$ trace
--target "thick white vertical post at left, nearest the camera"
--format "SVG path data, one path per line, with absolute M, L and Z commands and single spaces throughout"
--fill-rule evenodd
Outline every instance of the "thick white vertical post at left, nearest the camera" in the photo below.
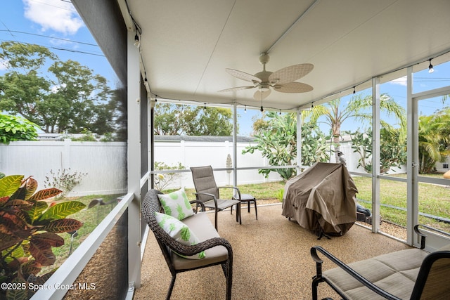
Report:
M 129 288 L 141 286 L 141 72 L 139 48 L 134 46 L 134 32 L 127 43 L 128 112 L 128 191 L 134 200 L 128 207 L 128 279 Z

